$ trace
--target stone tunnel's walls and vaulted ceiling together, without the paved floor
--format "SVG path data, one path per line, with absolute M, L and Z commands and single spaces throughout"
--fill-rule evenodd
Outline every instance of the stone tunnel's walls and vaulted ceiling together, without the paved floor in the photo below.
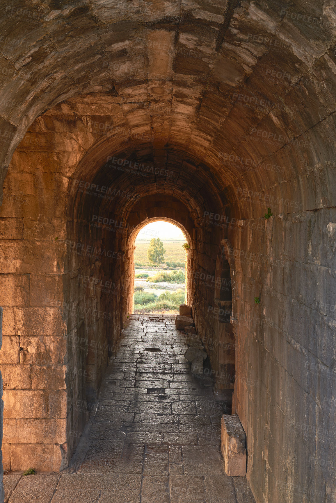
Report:
M 4 469 L 68 467 L 165 220 L 255 500 L 335 501 L 334 2 L 1 13 Z

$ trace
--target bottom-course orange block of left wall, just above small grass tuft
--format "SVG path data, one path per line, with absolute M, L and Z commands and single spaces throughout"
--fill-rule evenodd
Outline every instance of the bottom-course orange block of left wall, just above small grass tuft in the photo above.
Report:
M 59 471 L 61 451 L 54 444 L 11 444 L 12 470 Z

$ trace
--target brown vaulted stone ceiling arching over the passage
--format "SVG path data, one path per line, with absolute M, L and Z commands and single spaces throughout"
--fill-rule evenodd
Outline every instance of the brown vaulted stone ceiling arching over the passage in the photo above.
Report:
M 309 207 L 307 175 L 334 149 L 318 146 L 333 137 L 336 109 L 331 3 L 17 2 L 3 11 L 3 176 L 34 119 L 44 114 L 43 130 L 59 114 L 63 137 L 63 119 L 76 122 L 92 180 L 107 156 L 124 156 L 180 172 L 154 178 L 151 193 L 170 186 L 190 201 L 194 183 L 200 199 L 215 191 L 234 204 L 240 187 Z M 324 192 L 316 204 L 330 199 Z

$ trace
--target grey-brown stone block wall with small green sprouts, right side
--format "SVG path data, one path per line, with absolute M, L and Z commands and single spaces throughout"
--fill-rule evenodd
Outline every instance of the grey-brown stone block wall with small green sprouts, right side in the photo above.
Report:
M 302 211 L 264 220 L 259 239 L 230 233 L 241 285 L 234 410 L 260 501 L 332 501 L 335 220 Z

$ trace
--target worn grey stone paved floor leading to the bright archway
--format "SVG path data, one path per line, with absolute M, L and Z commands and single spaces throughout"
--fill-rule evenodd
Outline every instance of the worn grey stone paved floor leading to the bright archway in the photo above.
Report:
M 246 478 L 223 471 L 228 410 L 191 374 L 175 316 L 130 318 L 72 466 L 5 475 L 5 501 L 253 503 Z

